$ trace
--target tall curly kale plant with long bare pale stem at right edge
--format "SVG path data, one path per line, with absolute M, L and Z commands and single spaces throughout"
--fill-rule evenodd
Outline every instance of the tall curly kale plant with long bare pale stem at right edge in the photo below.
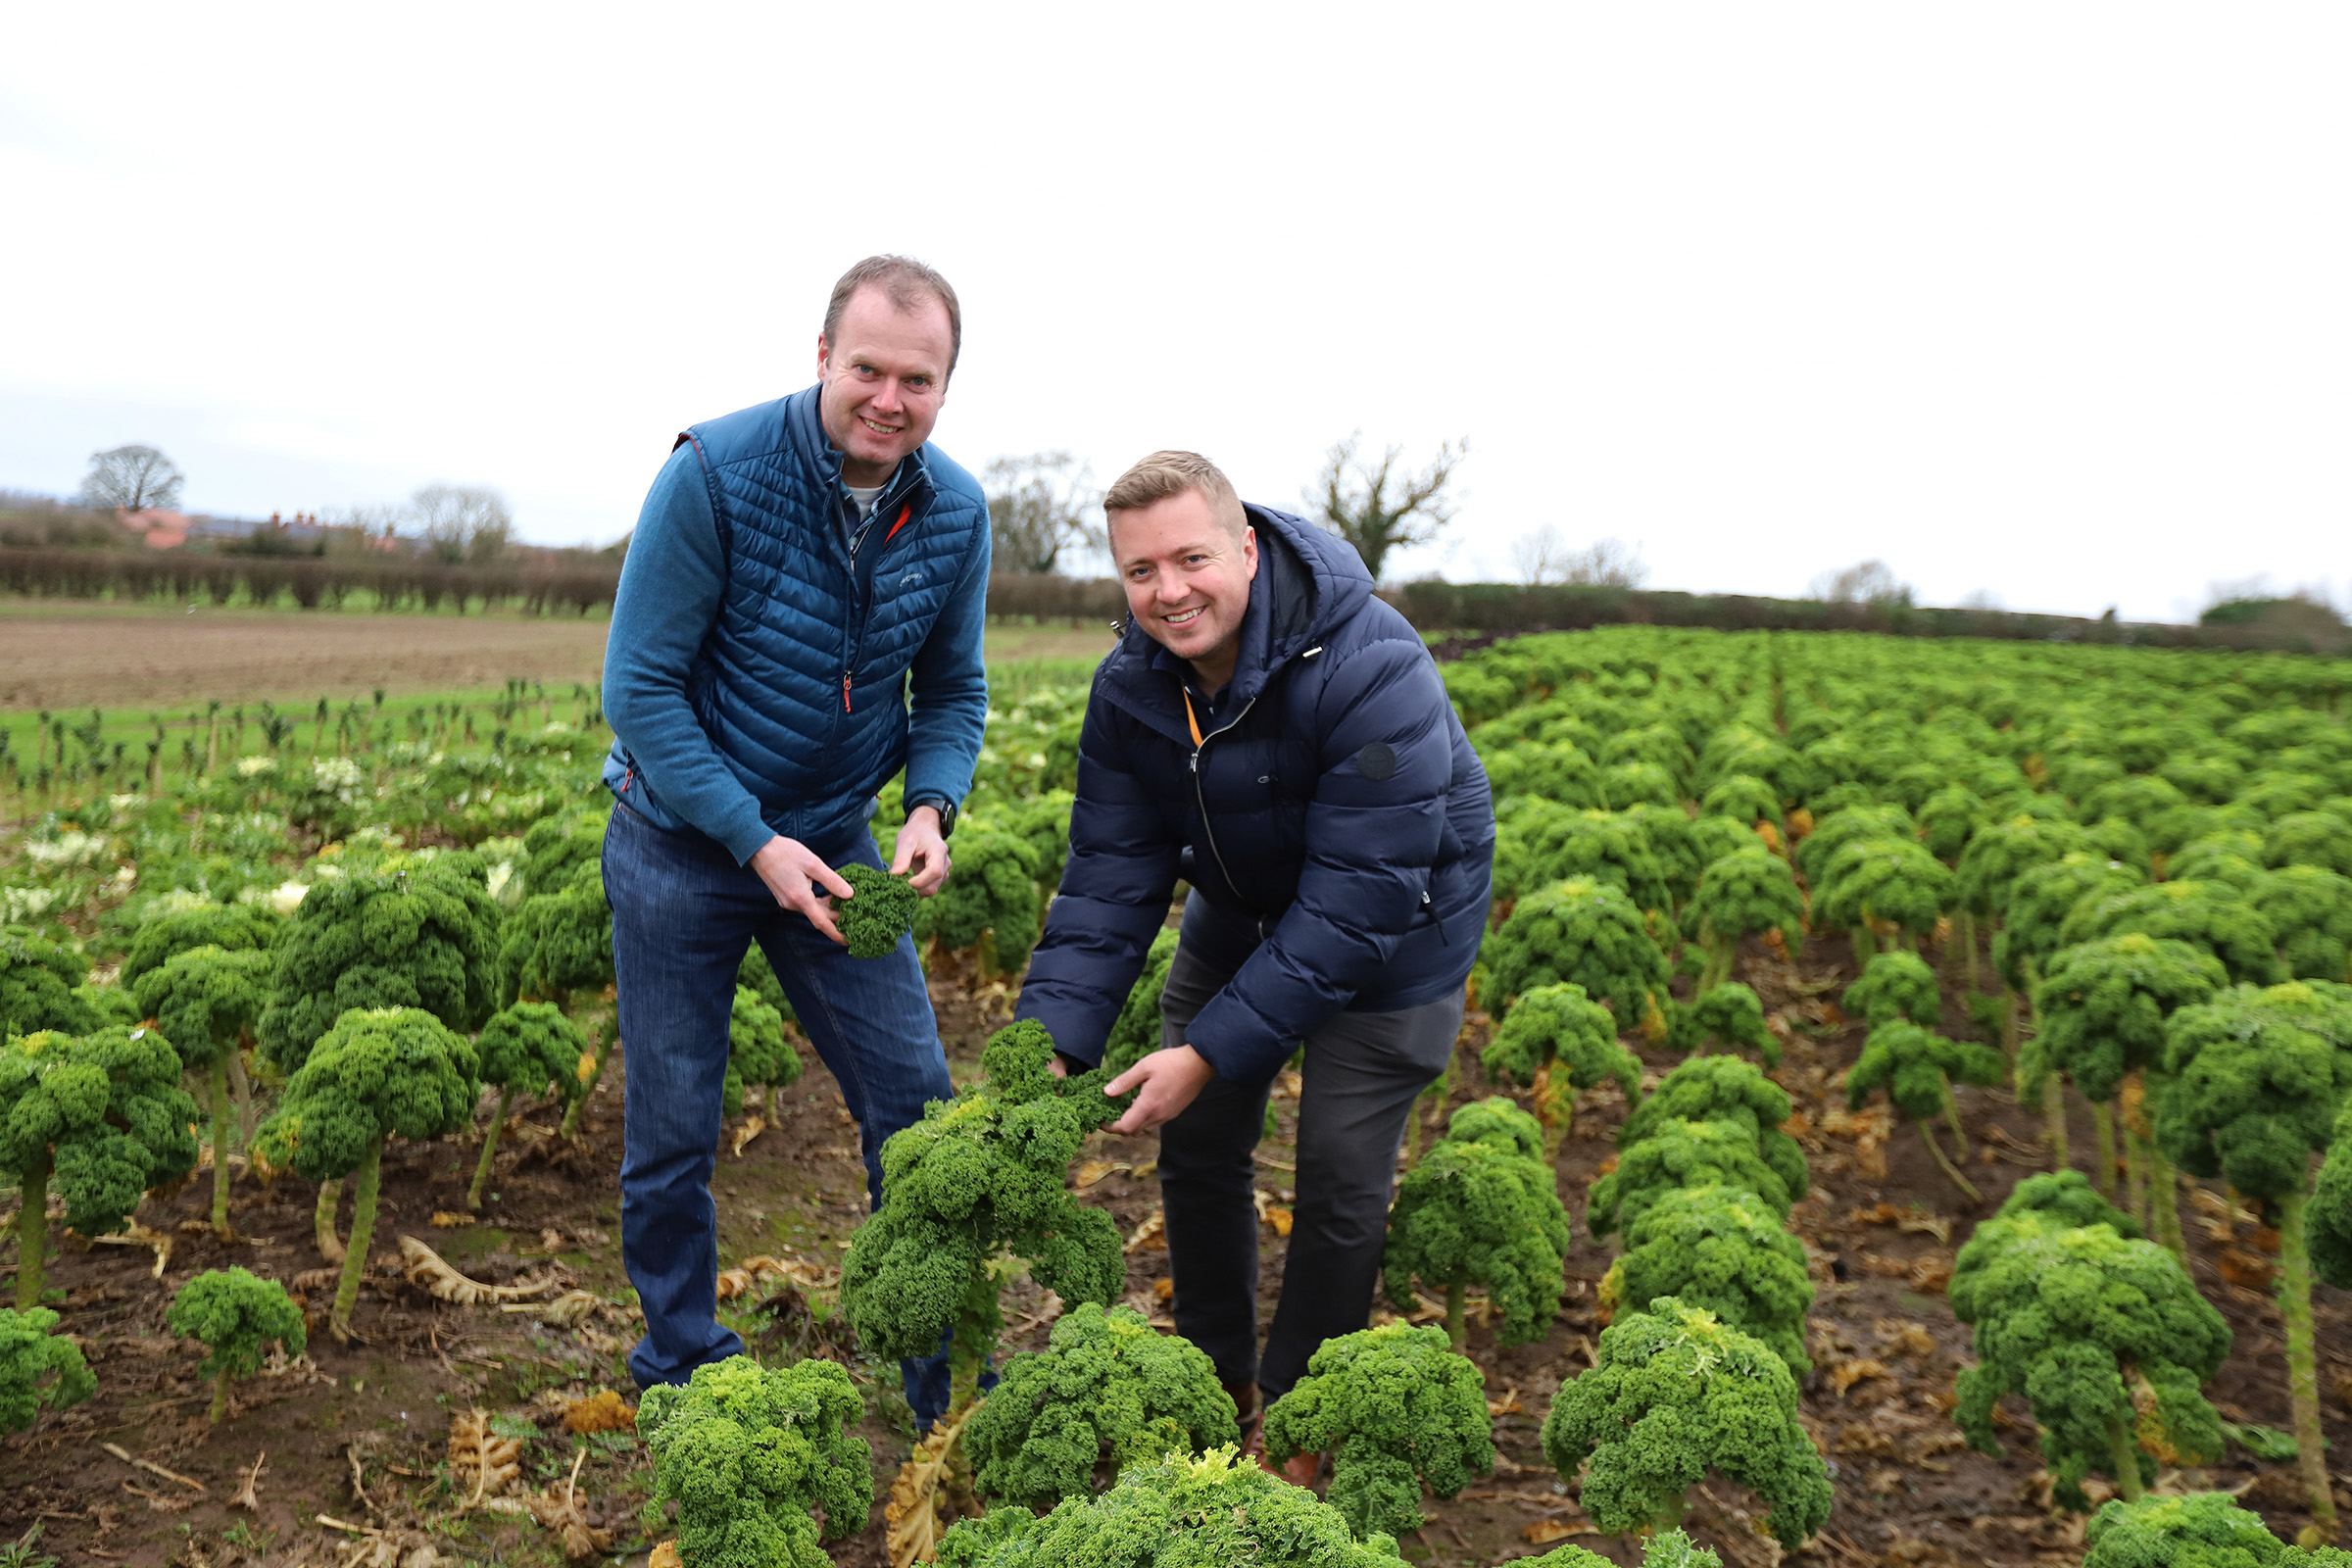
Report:
M 2279 1227 L 2286 1394 L 2312 1521 L 2333 1533 L 2303 1215 L 2312 1152 L 2328 1145 L 2352 1091 L 2352 985 L 2239 985 L 2185 1006 L 2164 1027 L 2164 1065 L 2173 1081 L 2157 1100 L 2157 1147 L 2185 1171 L 2220 1175 L 2260 1199 Z

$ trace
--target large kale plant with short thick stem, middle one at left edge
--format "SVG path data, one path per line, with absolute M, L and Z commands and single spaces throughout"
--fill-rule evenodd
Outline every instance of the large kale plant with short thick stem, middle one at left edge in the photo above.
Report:
M 24 1034 L 0 1044 L 0 1173 L 16 1206 L 16 1307 L 38 1307 L 49 1258 L 49 1180 L 66 1225 L 122 1229 L 139 1197 L 195 1168 L 195 1100 L 160 1030 Z

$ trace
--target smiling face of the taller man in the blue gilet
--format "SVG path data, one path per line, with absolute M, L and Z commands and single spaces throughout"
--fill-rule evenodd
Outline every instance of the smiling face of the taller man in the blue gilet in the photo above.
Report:
M 955 334 L 948 308 L 922 296 L 913 310 L 882 287 L 858 289 L 842 308 L 835 341 L 816 336 L 818 409 L 842 454 L 842 482 L 882 484 L 898 461 L 931 440 L 948 397 Z

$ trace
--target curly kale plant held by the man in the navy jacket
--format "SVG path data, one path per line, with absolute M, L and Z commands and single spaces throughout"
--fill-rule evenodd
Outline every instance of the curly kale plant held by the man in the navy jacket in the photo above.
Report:
M 1120 1229 L 1070 1197 L 1070 1161 L 1120 1103 L 1101 1067 L 1051 1074 L 1054 1037 L 1033 1020 L 1000 1030 L 983 1079 L 934 1100 L 882 1145 L 882 1206 L 849 1239 L 842 1309 L 880 1356 L 931 1356 L 955 1331 L 955 1406 L 971 1401 L 1002 1316 L 990 1258 L 1025 1258 L 1065 1302 L 1110 1302 L 1127 1281 Z

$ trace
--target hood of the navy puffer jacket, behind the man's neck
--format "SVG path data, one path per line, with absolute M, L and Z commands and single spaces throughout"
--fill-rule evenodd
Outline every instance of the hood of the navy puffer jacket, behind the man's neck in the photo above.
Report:
M 1275 670 L 1324 642 L 1334 628 L 1364 609 L 1371 599 L 1371 574 L 1364 571 L 1364 557 L 1355 545 L 1338 534 L 1270 505 L 1244 501 L 1242 510 L 1258 534 L 1258 576 L 1249 585 L 1242 649 L 1232 665 L 1232 696 L 1247 703 L 1265 689 Z M 1103 677 L 1134 689 L 1145 670 L 1167 670 L 1181 679 L 1188 665 L 1127 616 L 1120 646 L 1103 661 Z M 1174 715 L 1174 708 L 1169 712 Z

